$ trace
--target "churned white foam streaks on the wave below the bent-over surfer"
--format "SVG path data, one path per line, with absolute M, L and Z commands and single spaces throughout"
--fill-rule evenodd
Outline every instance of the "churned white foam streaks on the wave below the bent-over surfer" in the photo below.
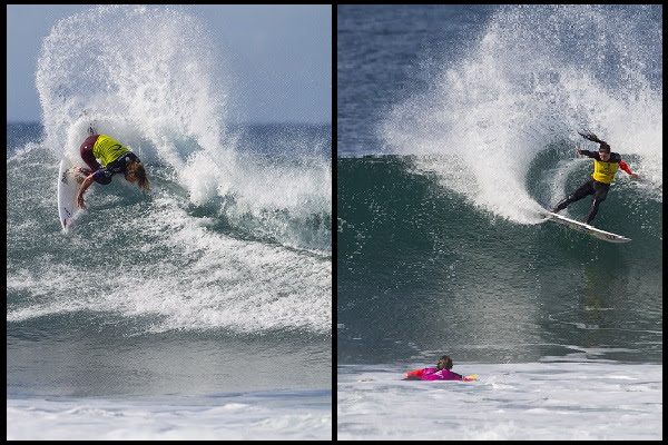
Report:
M 194 219 L 173 197 L 156 198 L 137 220 L 122 281 L 106 283 L 104 293 L 72 288 L 82 277 L 105 283 L 106 270 L 90 270 L 85 257 L 67 266 L 43 261 L 37 270 L 8 276 L 8 289 L 31 296 L 29 306 L 9 308 L 8 322 L 89 310 L 126 318 L 149 317 L 147 332 L 224 328 L 239 333 L 306 329 L 327 334 L 332 324 L 331 261 L 318 256 L 245 241 L 208 230 L 208 219 Z M 107 221 L 110 233 L 124 219 Z M 86 238 L 66 238 L 85 249 Z M 105 244 L 99 245 L 104 248 Z M 156 261 L 163 256 L 163 261 Z M 128 258 L 129 259 L 129 258 Z M 69 291 L 63 291 L 69 289 Z M 156 320 L 156 317 L 158 320 Z

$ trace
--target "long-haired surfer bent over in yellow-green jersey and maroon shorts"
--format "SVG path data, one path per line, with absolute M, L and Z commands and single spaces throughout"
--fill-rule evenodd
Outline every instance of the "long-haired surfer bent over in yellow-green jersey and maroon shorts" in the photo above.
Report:
M 140 189 L 149 190 L 144 165 L 132 151 L 108 136 L 96 134 L 92 127 L 88 129 L 88 132 L 90 136 L 81 144 L 80 152 L 81 159 L 90 167 L 90 170 L 75 167 L 86 176 L 77 194 L 77 205 L 80 208 L 86 207 L 84 192 L 92 182 L 107 185 L 111 182 L 111 177 L 119 172 L 124 174 L 127 181 L 137 182 Z

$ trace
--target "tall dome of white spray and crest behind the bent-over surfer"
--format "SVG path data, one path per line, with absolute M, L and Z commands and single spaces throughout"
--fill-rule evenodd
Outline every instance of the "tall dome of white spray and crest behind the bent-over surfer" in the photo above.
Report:
M 288 246 L 331 250 L 331 227 L 303 230 L 331 215 L 331 159 L 318 148 L 331 142 L 307 142 L 312 160 L 302 149 L 291 155 L 306 161 L 267 162 L 266 147 L 229 128 L 234 81 L 220 47 L 175 8 L 100 6 L 62 19 L 38 61 L 43 145 L 82 165 L 92 125 L 135 151 L 149 178 L 168 167 L 193 205 Z M 295 135 L 293 146 L 303 144 Z

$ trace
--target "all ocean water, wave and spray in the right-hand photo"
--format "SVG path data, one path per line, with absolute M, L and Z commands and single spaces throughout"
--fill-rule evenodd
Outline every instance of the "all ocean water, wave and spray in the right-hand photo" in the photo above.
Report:
M 661 14 L 337 8 L 340 439 L 662 437 Z M 540 217 L 583 129 L 641 177 L 592 222 L 629 244 Z M 401 380 L 443 354 L 478 380 Z

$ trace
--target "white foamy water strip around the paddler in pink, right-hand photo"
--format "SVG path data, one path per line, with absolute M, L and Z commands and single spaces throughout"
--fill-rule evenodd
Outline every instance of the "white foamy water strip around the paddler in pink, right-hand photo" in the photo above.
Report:
M 340 366 L 338 439 L 662 438 L 661 365 L 461 363 L 477 380 L 402 380 L 426 365 Z

